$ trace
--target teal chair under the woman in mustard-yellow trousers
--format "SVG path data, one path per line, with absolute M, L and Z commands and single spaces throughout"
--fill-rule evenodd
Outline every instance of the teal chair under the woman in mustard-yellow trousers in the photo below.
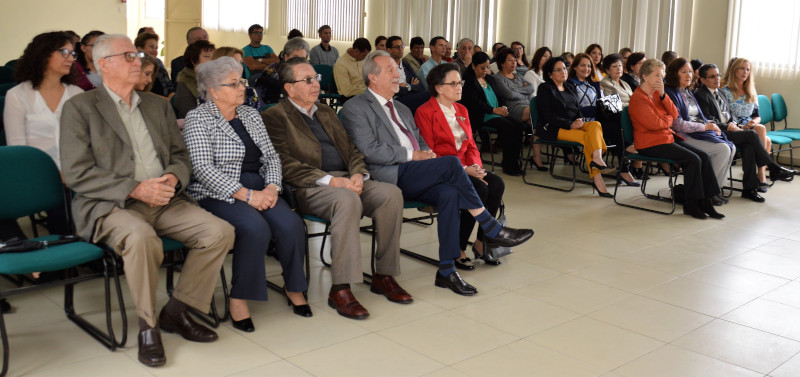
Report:
M 536 102 L 536 97 L 531 98 L 530 111 L 531 111 L 531 130 L 532 132 L 535 133 L 536 126 L 538 125 L 539 122 L 539 107 Z M 525 158 L 525 165 L 522 168 L 522 181 L 525 182 L 525 184 L 531 186 L 543 187 L 551 190 L 562 191 L 562 192 L 570 192 L 574 190 L 575 183 L 578 182 L 587 185 L 592 184 L 590 181 L 578 179 L 578 172 L 577 172 L 578 164 L 572 165 L 571 176 L 562 176 L 555 173 L 555 164 L 556 161 L 558 160 L 558 152 L 563 149 L 567 149 L 572 151 L 573 155 L 578 156 L 580 154 L 580 151 L 583 149 L 583 145 L 581 145 L 581 143 L 576 143 L 574 141 L 564 141 L 564 140 L 545 140 L 542 138 L 536 139 L 536 141 L 534 141 L 533 143 L 541 144 L 547 147 L 548 150 L 547 154 L 550 156 L 548 164 L 548 170 L 550 171 L 550 176 L 558 180 L 568 181 L 570 182 L 570 186 L 569 188 L 562 188 L 557 186 L 545 185 L 541 183 L 528 182 L 528 174 L 527 174 L 528 164 L 533 158 L 533 146 L 531 146 L 530 150 L 528 151 L 528 157 Z

